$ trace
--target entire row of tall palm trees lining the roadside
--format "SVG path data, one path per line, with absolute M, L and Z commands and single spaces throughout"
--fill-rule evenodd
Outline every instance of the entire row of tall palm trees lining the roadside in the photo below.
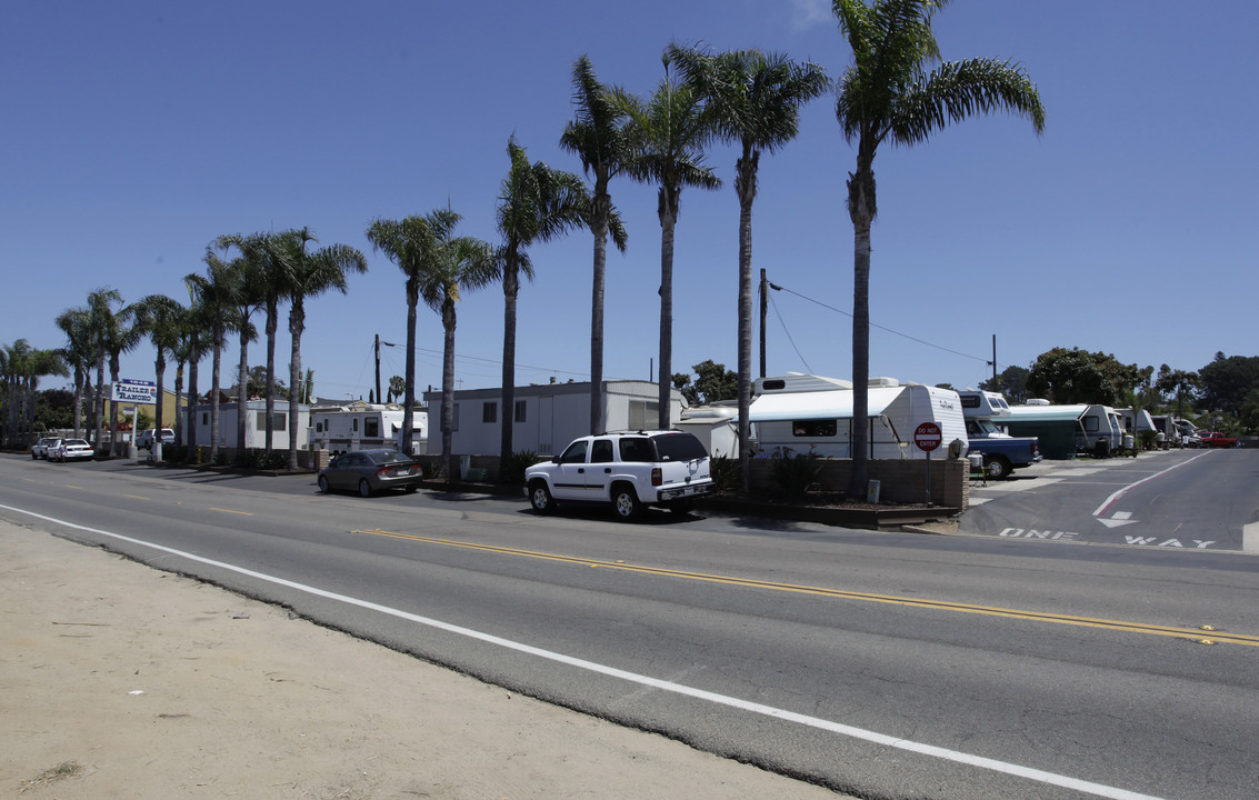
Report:
M 968 59 L 940 63 L 939 48 L 932 33 L 934 14 L 948 0 L 832 0 L 840 30 L 847 40 L 854 63 L 836 83 L 836 120 L 844 136 L 856 145 L 857 164 L 849 175 L 849 215 L 854 224 L 854 311 L 852 383 L 854 418 L 866 417 L 869 382 L 869 272 L 870 229 L 876 215 L 874 157 L 879 145 L 890 142 L 910 146 L 923 142 L 946 125 L 976 113 L 998 110 L 1029 118 L 1035 130 L 1044 129 L 1044 107 L 1035 86 L 1024 69 L 1011 62 Z M 684 186 L 716 189 L 720 180 L 705 164 L 705 147 L 713 142 L 733 144 L 735 193 L 739 199 L 739 438 L 740 459 L 750 455 L 749 438 L 752 397 L 752 209 L 763 154 L 773 154 L 793 140 L 799 127 L 799 110 L 831 86 L 826 72 L 813 63 L 796 63 L 782 54 L 758 50 L 710 53 L 700 48 L 669 45 L 662 57 L 665 78 L 647 100 L 624 89 L 604 86 L 593 66 L 582 57 L 573 67 L 572 89 L 574 118 L 560 136 L 560 146 L 577 155 L 590 180 L 556 170 L 544 163 L 530 163 L 515 139 L 507 142 L 510 169 L 501 184 L 496 214 L 502 244 L 491 248 L 471 237 L 456 237 L 460 220 L 451 209 L 402 220 L 376 220 L 368 239 L 385 253 L 405 276 L 408 307 L 407 330 L 407 412 L 414 406 L 415 307 L 421 299 L 442 315 L 444 358 L 442 375 L 442 451 L 451 456 L 453 408 L 454 305 L 460 292 L 480 289 L 501 280 L 504 311 L 502 358 L 502 435 L 500 456 L 512 454 L 512 409 L 515 387 L 515 328 L 520 277 L 533 277 L 529 248 L 540 242 L 585 227 L 594 239 L 592 314 L 590 314 L 590 432 L 603 430 L 603 285 L 607 239 L 624 249 L 626 231 L 612 203 L 609 185 L 627 176 L 658 186 L 661 224 L 661 312 L 660 312 L 660 418 L 669 427 L 672 389 L 672 258 L 679 203 Z M 676 74 L 675 74 L 676 68 Z M 220 237 L 206 251 L 206 275 L 186 278 L 208 325 L 201 336 L 191 334 L 191 344 L 175 336 L 165 348 L 183 364 L 189 364 L 190 392 L 195 394 L 196 362 L 200 346 L 214 353 L 214 391 L 212 414 L 217 421 L 219 396 L 219 349 L 223 336 L 233 330 L 240 335 L 240 386 L 246 386 L 246 346 L 253 331 L 249 317 L 264 310 L 267 316 L 267 449 L 271 449 L 272 402 L 274 384 L 274 333 L 277 309 L 288 301 L 292 335 L 290 362 L 291 386 L 298 384 L 300 339 L 305 323 L 305 297 L 327 289 L 345 291 L 345 276 L 366 268 L 361 253 L 347 246 L 332 246 L 310 252 L 313 236 L 307 229 L 279 234 Z M 238 253 L 228 260 L 228 254 Z M 247 277 L 253 276 L 253 277 Z M 252 289 L 244 289 L 249 286 Z M 111 297 L 106 290 L 93 294 Z M 176 304 L 178 305 L 178 304 Z M 89 299 L 87 312 L 94 306 Z M 120 310 L 125 316 L 127 310 Z M 154 338 L 159 350 L 161 383 L 164 315 L 179 316 L 174 306 L 147 297 L 135 311 L 136 326 Z M 104 319 L 104 317 L 101 317 Z M 111 348 L 126 345 L 122 330 L 110 339 Z M 101 336 L 102 334 L 96 334 Z M 180 348 L 191 348 L 190 351 Z M 102 353 L 97 346 L 97 391 L 102 383 Z M 111 358 L 111 368 L 117 355 Z M 73 362 L 71 362 L 73 365 Z M 179 378 L 176 378 L 176 382 Z M 176 393 L 179 392 L 176 384 Z M 159 427 L 161 422 L 157 422 Z M 238 414 L 238 442 L 243 446 L 244 418 Z M 212 427 L 217 422 L 212 423 Z M 296 403 L 290 404 L 290 431 L 296 430 Z M 410 435 L 409 421 L 403 426 Z M 864 426 L 854 426 L 854 469 L 850 494 L 860 496 L 866 479 L 866 436 Z M 212 447 L 217 447 L 217 427 Z M 410 446 L 410 442 L 407 442 Z M 290 465 L 296 466 L 296 437 L 290 437 Z M 744 467 L 747 464 L 744 462 Z M 748 470 L 743 470 L 747 481 Z

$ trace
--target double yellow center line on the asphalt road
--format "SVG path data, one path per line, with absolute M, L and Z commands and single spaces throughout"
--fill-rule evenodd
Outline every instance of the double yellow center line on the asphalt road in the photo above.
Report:
M 1124 631 L 1131 634 L 1148 634 L 1153 636 L 1171 636 L 1175 639 L 1188 639 L 1199 644 L 1239 644 L 1259 646 L 1259 636 L 1245 634 L 1229 634 L 1217 631 L 1205 625 L 1200 629 L 1173 627 L 1168 625 L 1147 625 L 1144 622 L 1128 622 L 1123 620 L 1107 620 L 1097 617 L 1071 616 L 1066 614 L 1047 614 L 1042 611 L 1026 611 L 1022 609 L 1002 609 L 1000 606 L 978 606 L 972 603 L 948 602 L 943 600 L 922 600 L 917 597 L 899 597 L 896 595 L 874 595 L 869 592 L 851 592 L 846 590 L 826 588 L 818 586 L 801 586 L 796 583 L 779 583 L 776 581 L 757 581 L 753 578 L 739 578 L 734 576 L 706 574 L 703 572 L 685 572 L 680 569 L 665 569 L 662 567 L 647 567 L 630 564 L 622 561 L 599 561 L 579 558 L 575 556 L 559 556 L 555 553 L 540 553 L 536 551 L 522 551 L 496 544 L 477 544 L 475 542 L 460 542 L 454 539 L 437 539 L 408 533 L 394 533 L 389 530 L 353 530 L 351 533 L 365 533 L 392 539 L 407 539 L 410 542 L 423 542 L 426 544 L 441 544 L 444 547 L 457 547 L 470 551 L 496 553 L 500 556 L 514 556 L 521 558 L 539 558 L 582 567 L 603 569 L 619 569 L 623 572 L 636 572 L 640 574 L 652 574 L 667 578 L 681 578 L 687 581 L 704 581 L 708 583 L 724 583 L 728 586 L 742 586 L 747 588 L 767 588 L 778 592 L 794 592 L 799 595 L 816 595 L 820 597 L 833 597 L 837 600 L 855 600 L 861 602 L 880 602 L 898 606 L 910 606 L 917 609 L 930 609 L 935 611 L 954 611 L 961 614 L 981 614 L 986 616 L 1001 616 L 1015 620 L 1029 620 L 1034 622 L 1053 622 L 1058 625 L 1074 625 L 1078 627 L 1099 627 L 1104 630 Z

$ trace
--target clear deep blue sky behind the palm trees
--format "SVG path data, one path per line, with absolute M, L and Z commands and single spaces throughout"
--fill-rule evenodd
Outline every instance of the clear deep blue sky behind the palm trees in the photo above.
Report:
M 1259 5 L 1243 0 L 947 6 L 943 58 L 1017 62 L 1046 126 L 973 117 L 880 149 L 870 374 L 974 386 L 992 374 L 993 338 L 998 370 L 1055 346 L 1156 370 L 1255 355 L 1255 29 Z M 851 63 L 823 0 L 9 4 L 0 345 L 62 346 L 55 316 L 102 287 L 186 302 L 183 278 L 204 272 L 218 236 L 308 227 L 322 246 L 363 251 L 369 271 L 307 301 L 302 367 L 321 398 L 368 398 L 376 335 L 395 344 L 381 380 L 404 373 L 407 319 L 402 272 L 373 252 L 370 223 L 449 207 L 460 234 L 497 243 L 509 137 L 580 174 L 559 147 L 574 62 L 588 55 L 602 82 L 647 96 L 670 42 L 784 53 L 832 79 Z M 723 188 L 682 193 L 672 372 L 738 367 L 737 157 L 711 146 Z M 851 377 L 855 160 L 833 92 L 760 160 L 753 272 L 782 287 L 765 325 L 771 375 Z M 604 378 L 655 379 L 656 189 L 621 178 L 611 194 L 630 244 L 608 248 Z M 530 249 L 517 384 L 589 378 L 592 253 L 588 231 Z M 457 388 L 499 386 L 502 310 L 500 286 L 462 297 Z M 427 306 L 418 319 L 422 392 L 441 384 L 442 326 Z M 233 341 L 224 363 L 237 357 Z M 261 343 L 249 360 L 264 362 Z M 154 379 L 150 344 L 123 355 L 122 378 Z

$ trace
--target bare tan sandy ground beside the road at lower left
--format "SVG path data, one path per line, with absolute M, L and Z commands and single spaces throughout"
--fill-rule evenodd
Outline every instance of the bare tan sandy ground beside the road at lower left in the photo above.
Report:
M 838 795 L 0 523 L 0 797 Z

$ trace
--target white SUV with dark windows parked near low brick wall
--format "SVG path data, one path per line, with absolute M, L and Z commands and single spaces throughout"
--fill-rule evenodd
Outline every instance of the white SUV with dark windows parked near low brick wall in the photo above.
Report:
M 685 513 L 713 490 L 704 443 L 681 431 L 583 436 L 525 470 L 525 496 L 539 514 L 568 501 L 611 503 L 623 520 L 647 505 Z

